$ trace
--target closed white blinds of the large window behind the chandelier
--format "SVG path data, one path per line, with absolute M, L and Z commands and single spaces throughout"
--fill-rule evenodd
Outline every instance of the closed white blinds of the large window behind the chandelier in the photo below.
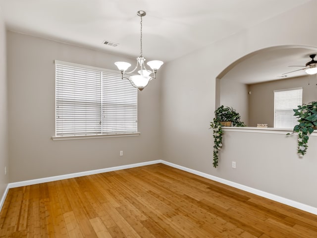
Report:
M 64 65 L 56 69 L 56 136 L 137 132 L 137 89 L 119 73 Z

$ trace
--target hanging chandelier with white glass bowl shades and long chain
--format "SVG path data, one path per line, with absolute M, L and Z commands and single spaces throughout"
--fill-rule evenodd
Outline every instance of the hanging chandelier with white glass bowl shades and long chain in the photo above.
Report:
M 145 58 L 142 54 L 142 17 L 145 16 L 147 13 L 145 11 L 138 11 L 137 15 L 141 17 L 141 50 L 140 50 L 140 57 L 137 58 L 137 65 L 135 68 L 130 71 L 126 72 L 126 70 L 131 66 L 128 62 L 115 62 L 114 64 L 118 67 L 118 69 L 121 72 L 121 79 L 128 79 L 133 87 L 138 88 L 140 91 L 142 91 L 150 82 L 150 80 L 156 78 L 156 74 L 160 66 L 163 64 L 163 61 L 160 60 L 152 60 L 147 62 L 147 64 L 150 66 L 152 70 L 149 70 L 146 68 L 144 62 Z M 139 74 L 127 76 L 126 73 L 132 73 L 135 70 L 139 69 L 137 72 Z

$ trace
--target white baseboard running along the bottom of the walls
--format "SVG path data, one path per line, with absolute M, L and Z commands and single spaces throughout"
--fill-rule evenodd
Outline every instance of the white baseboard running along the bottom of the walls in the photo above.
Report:
M 310 212 L 310 213 L 317 215 L 317 208 L 316 207 L 312 207 L 312 206 L 309 206 L 309 205 L 306 205 L 306 204 L 303 204 L 300 202 L 296 202 L 296 201 L 293 201 L 293 200 L 290 200 L 290 199 L 287 199 L 287 198 L 284 198 L 281 196 L 277 196 L 277 195 L 274 195 L 274 194 L 271 194 L 268 192 L 264 192 L 264 191 L 259 190 L 259 189 L 248 187 L 248 186 L 245 186 L 245 185 L 240 184 L 240 183 L 232 182 L 232 181 L 229 181 L 226 179 L 221 179 L 221 178 L 218 178 L 218 177 L 215 177 L 215 176 L 212 176 L 209 174 L 205 174 L 203 172 L 199 172 L 196 170 L 192 170 L 192 169 L 180 166 L 180 165 L 176 165 L 176 164 L 164 161 L 164 160 L 154 160 L 154 161 L 142 162 L 142 163 L 137 163 L 137 164 L 130 164 L 130 165 L 105 168 L 105 169 L 100 169 L 100 170 L 91 170 L 91 171 L 79 172 L 79 173 L 68 174 L 68 175 L 53 176 L 53 177 L 42 178 L 42 179 L 32 179 L 32 180 L 26 180 L 26 181 L 20 181 L 20 182 L 12 182 L 12 183 L 9 183 L 7 185 L 5 191 L 2 195 L 2 198 L 0 200 L 0 210 L 3 206 L 4 200 L 5 200 L 5 197 L 7 195 L 9 188 L 27 186 L 27 185 L 38 184 L 38 183 L 43 183 L 43 182 L 57 181 L 57 180 L 61 180 L 61 179 L 71 179 L 71 178 L 87 176 L 87 175 L 95 175 L 95 174 L 106 173 L 106 172 L 110 172 L 110 171 L 130 169 L 130 168 L 136 168 L 136 167 L 146 166 L 146 165 L 153 165 L 153 164 L 158 164 L 158 163 L 162 163 L 164 165 L 168 165 L 168 166 L 171 166 L 173 168 L 180 169 L 180 170 L 189 172 L 189 173 L 194 174 L 194 175 L 198 175 L 198 176 L 201 176 L 201 177 L 204 177 L 207 179 L 211 179 L 211 180 L 214 180 L 214 181 L 217 181 L 217 182 L 220 182 L 220 183 L 223 183 L 223 184 L 226 184 L 226 185 L 229 185 L 229 186 L 232 186 L 232 187 L 235 187 L 235 188 L 238 188 L 238 189 L 241 189 L 241 190 L 244 190 L 244 191 L 265 197 L 265 198 L 268 198 L 270 200 L 277 201 L 277 202 L 280 202 L 280 203 L 283 203 L 283 204 L 286 204 L 286 205 L 289 205 L 289 206 L 292 206 L 292 207 L 301 209 L 303 211 Z

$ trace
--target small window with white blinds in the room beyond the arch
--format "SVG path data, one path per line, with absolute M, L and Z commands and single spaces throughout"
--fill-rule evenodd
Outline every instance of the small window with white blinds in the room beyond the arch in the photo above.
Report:
M 302 105 L 302 88 L 274 91 L 274 127 L 293 128 L 297 122 L 293 109 Z

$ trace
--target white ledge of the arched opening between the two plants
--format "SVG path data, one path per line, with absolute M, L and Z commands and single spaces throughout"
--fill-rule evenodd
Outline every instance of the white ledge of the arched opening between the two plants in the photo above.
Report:
M 236 127 L 236 126 L 222 126 L 223 131 L 238 131 L 238 132 L 252 132 L 252 133 L 269 133 L 269 134 L 284 134 L 292 133 L 290 128 L 273 128 L 273 127 Z M 294 133 L 297 134 L 297 133 Z M 311 134 L 317 136 L 317 130 Z

